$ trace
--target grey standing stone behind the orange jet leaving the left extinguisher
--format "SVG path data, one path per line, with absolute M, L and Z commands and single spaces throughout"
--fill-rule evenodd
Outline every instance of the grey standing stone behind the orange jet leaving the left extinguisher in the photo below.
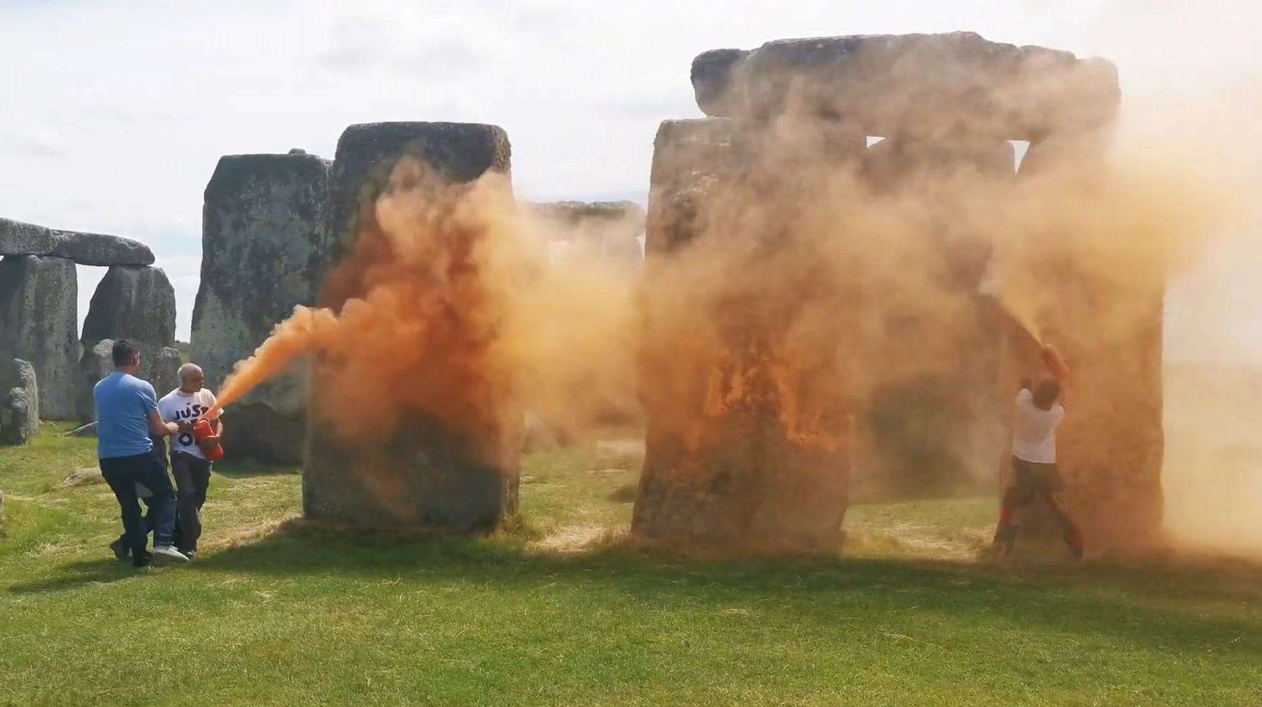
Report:
M 295 305 L 314 305 L 327 260 L 328 160 L 227 155 L 206 185 L 202 280 L 193 306 L 193 363 L 218 389 Z M 232 457 L 297 464 L 305 439 L 305 367 L 232 405 Z

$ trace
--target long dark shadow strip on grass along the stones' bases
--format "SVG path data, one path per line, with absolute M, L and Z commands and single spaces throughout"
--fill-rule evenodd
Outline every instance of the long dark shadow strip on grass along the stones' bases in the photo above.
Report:
M 1262 567 L 1007 565 L 838 557 L 695 558 L 611 546 L 529 551 L 511 538 L 382 536 L 289 522 L 198 571 L 492 585 L 507 595 L 555 582 L 656 605 L 775 606 L 804 621 L 938 614 L 1005 629 L 1108 635 L 1172 653 L 1262 657 Z M 1218 606 L 1206 606 L 1218 602 Z M 1242 607 L 1248 604 L 1249 607 Z

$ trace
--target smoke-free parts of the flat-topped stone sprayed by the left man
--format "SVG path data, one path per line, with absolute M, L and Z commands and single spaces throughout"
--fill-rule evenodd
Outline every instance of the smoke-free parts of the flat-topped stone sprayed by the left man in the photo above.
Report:
M 361 233 L 376 228 L 365 219 L 375 218 L 372 204 L 405 155 L 449 181 L 463 183 L 488 170 L 507 174 L 510 147 L 504 130 L 490 125 L 405 122 L 348 127 L 337 144 L 328 205 L 329 236 L 343 252 Z M 336 286 L 323 289 L 321 305 L 339 309 L 365 290 L 366 284 L 355 273 L 339 277 Z M 313 379 L 336 376 L 333 365 L 317 362 Z M 337 410 L 337 401 L 321 399 L 323 389 L 310 388 L 303 471 L 303 510 L 308 518 L 390 528 L 487 529 L 516 510 L 516 427 L 459 431 L 451 421 L 410 411 L 403 416 L 406 428 L 386 442 L 356 445 L 331 431 L 334 422 L 321 411 Z M 490 412 L 497 416 L 501 411 Z

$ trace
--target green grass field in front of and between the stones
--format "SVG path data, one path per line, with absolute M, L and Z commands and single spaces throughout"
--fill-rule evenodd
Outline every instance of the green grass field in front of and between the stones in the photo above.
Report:
M 0 449 L 0 703 L 1262 703 L 1262 568 L 978 560 L 991 499 L 688 558 L 625 541 L 627 442 L 528 456 L 488 538 L 333 533 L 294 470 L 223 466 L 197 562 L 136 572 L 52 431 Z

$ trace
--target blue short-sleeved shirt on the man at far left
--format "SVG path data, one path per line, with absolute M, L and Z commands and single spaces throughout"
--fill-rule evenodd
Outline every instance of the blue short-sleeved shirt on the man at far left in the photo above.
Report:
M 115 371 L 92 388 L 96 401 L 96 455 L 100 459 L 149 454 L 149 413 L 158 410 L 158 396 L 148 382 Z

